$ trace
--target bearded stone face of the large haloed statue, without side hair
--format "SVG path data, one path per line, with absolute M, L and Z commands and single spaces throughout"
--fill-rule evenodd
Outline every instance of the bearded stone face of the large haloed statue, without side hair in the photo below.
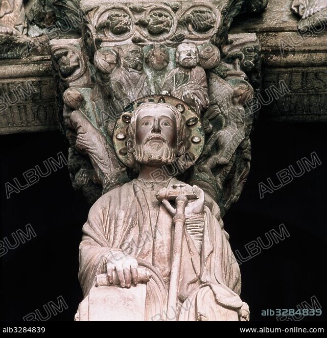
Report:
M 176 158 L 177 122 L 167 106 L 141 109 L 135 125 L 135 160 L 148 165 L 172 163 Z

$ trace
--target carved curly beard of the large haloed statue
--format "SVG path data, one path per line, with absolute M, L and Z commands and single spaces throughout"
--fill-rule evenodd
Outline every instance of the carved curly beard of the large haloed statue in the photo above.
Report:
M 176 148 L 167 142 L 146 141 L 135 146 L 134 158 L 140 164 L 172 164 L 176 159 Z

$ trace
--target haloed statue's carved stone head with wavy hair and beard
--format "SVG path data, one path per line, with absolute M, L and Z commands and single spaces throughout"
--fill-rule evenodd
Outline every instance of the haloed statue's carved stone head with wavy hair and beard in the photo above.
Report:
M 187 131 L 176 107 L 165 103 L 139 106 L 128 127 L 128 164 L 172 164 L 184 154 Z

